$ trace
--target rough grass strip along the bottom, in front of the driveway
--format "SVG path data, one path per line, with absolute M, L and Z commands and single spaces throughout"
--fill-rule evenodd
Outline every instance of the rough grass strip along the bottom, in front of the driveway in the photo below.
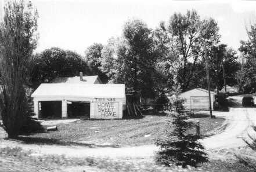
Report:
M 93 170 L 88 169 L 91 167 Z M 21 148 L 0 148 L 0 169 L 3 171 L 205 171 L 205 172 L 253 172 L 237 160 L 210 160 L 196 169 L 157 165 L 153 159 L 113 160 L 106 158 L 67 158 L 64 156 L 33 156 Z M 79 169 L 79 170 L 78 170 Z

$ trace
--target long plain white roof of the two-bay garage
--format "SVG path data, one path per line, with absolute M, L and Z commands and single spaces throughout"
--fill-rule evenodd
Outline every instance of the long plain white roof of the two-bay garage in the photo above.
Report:
M 31 97 L 125 98 L 124 84 L 42 83 Z

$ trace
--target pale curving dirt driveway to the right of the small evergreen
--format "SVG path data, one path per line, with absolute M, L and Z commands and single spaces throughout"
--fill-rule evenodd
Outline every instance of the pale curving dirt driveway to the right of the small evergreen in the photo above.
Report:
M 250 141 L 248 134 L 254 136 L 252 125 L 256 122 L 256 108 L 230 108 L 226 116 L 226 129 L 217 135 L 202 140 L 206 149 L 239 148 Z

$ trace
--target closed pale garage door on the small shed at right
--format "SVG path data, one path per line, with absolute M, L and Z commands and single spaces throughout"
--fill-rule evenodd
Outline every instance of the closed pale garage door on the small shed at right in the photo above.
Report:
M 192 110 L 210 110 L 208 96 L 191 96 L 190 107 Z

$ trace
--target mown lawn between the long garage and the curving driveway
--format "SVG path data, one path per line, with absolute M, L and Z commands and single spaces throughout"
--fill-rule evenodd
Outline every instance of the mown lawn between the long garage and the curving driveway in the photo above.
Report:
M 60 145 L 131 146 L 154 144 L 163 134 L 167 116 L 145 115 L 142 119 L 80 120 L 57 125 L 58 131 L 22 136 L 27 143 Z M 200 121 L 201 135 L 222 126 L 225 119 L 196 118 Z M 195 129 L 190 132 L 196 133 Z

